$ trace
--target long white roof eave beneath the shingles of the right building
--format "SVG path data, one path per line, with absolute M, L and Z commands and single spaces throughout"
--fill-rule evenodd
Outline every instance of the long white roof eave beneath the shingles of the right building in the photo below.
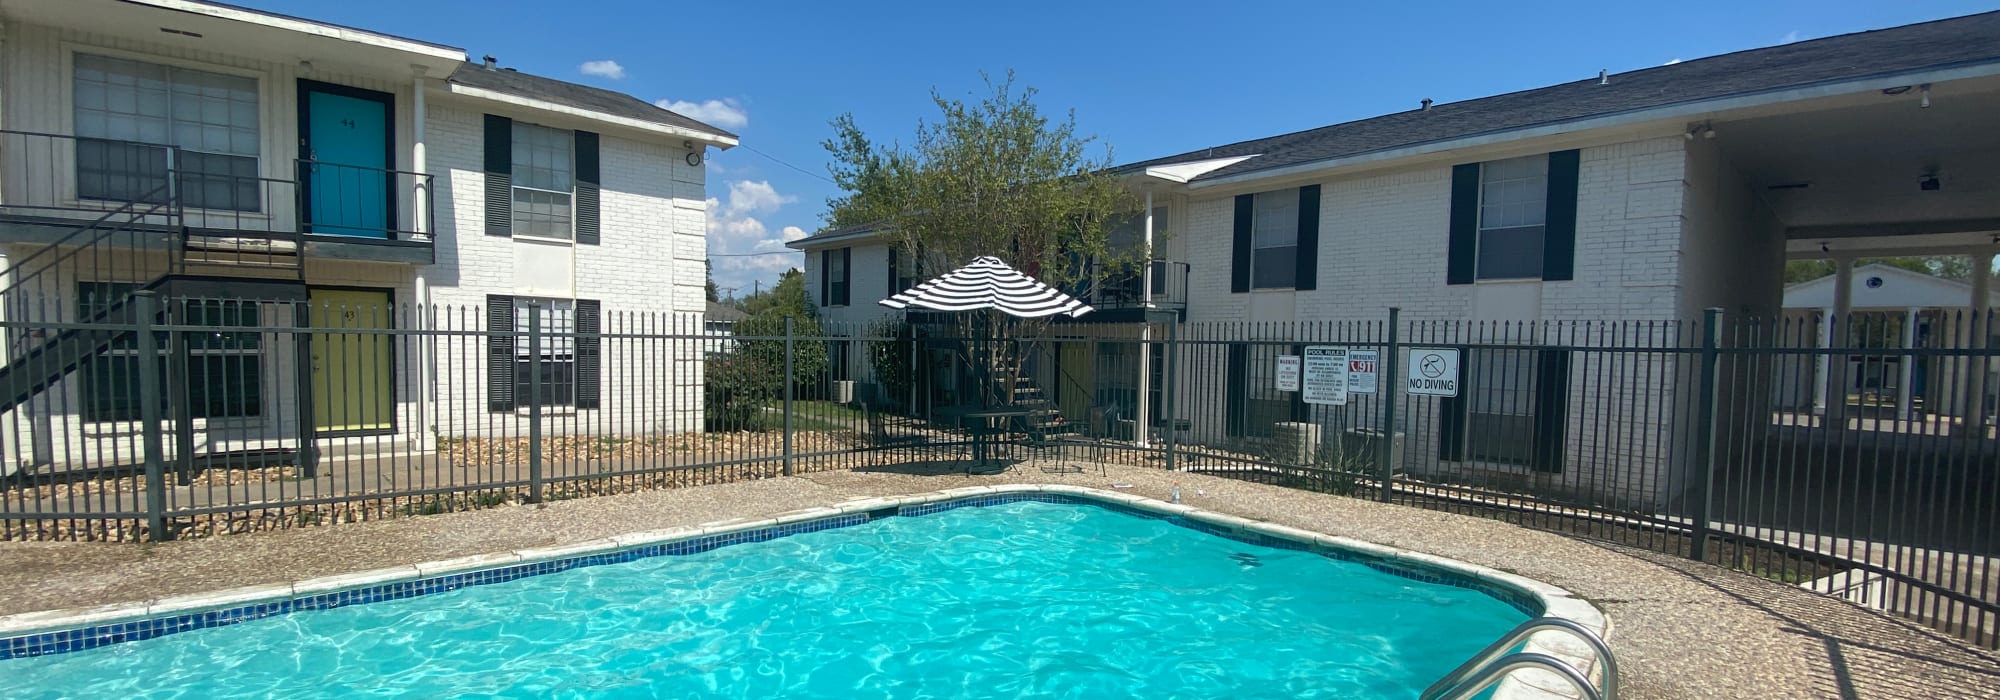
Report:
M 1804 86 L 1790 86 L 1790 88 L 1740 92 L 1740 94 L 1730 94 L 1730 96 L 1720 96 L 1720 98 L 1674 102 L 1674 104 L 1662 104 L 1662 106 L 1640 108 L 1640 110 L 1606 112 L 1606 114 L 1594 114 L 1594 116 L 1560 120 L 1560 122 L 1544 122 L 1544 124 L 1534 124 L 1534 126 L 1498 130 L 1498 132 L 1484 132 L 1484 134 L 1472 134 L 1472 136 L 1456 136 L 1456 138 L 1444 138 L 1444 140 L 1434 140 L 1434 142 L 1418 142 L 1418 144 L 1382 148 L 1382 150 L 1360 152 L 1360 154 L 1350 154 L 1350 156 L 1310 160 L 1310 162 L 1300 162 L 1300 164 L 1290 164 L 1290 166 L 1278 166 L 1278 168 L 1264 168 L 1264 170 L 1250 170 L 1250 172 L 1228 174 L 1228 176 L 1220 176 L 1220 178 L 1206 178 L 1206 180 L 1198 178 L 1194 182 L 1188 182 L 1188 190 L 1206 190 L 1206 188 L 1222 188 L 1222 186 L 1242 186 L 1242 184 L 1250 184 L 1250 182 L 1258 182 L 1258 180 L 1298 178 L 1298 176 L 1306 176 L 1306 174 L 1314 174 L 1314 172 L 1322 172 L 1322 170 L 1340 170 L 1340 168 L 1374 164 L 1374 162 L 1384 162 L 1384 160 L 1416 158 L 1416 156 L 1438 154 L 1438 152 L 1446 152 L 1446 150 L 1478 148 L 1478 146 L 1490 146 L 1490 144 L 1502 144 L 1502 142 L 1514 142 L 1514 140 L 1526 140 L 1526 138 L 1540 138 L 1540 136 L 1576 134 L 1576 132 L 1588 132 L 1588 130 L 1600 130 L 1600 128 L 1638 126 L 1638 124 L 1646 124 L 1646 122 L 1678 120 L 1678 118 L 1690 118 L 1690 116 L 1700 116 L 1700 114 L 1744 110 L 1744 108 L 1758 108 L 1758 106 L 1772 106 L 1772 104 L 1784 104 L 1784 102 L 1842 96 L 1842 94 L 1856 94 L 1856 92 L 1870 92 L 1870 90 L 1900 88 L 1900 86 L 1910 86 L 1910 84 L 1918 84 L 1918 82 L 1948 82 L 1948 80 L 1992 78 L 1992 76 L 2000 76 L 2000 60 L 1976 60 L 1976 62 L 1956 64 L 1956 66 L 1950 66 L 1950 68 L 1904 70 L 1904 72 L 1890 72 L 1890 74 L 1876 74 L 1876 76 L 1862 76 L 1862 78 L 1848 78 L 1848 80 L 1828 80 L 1828 82 L 1816 82 L 1816 84 L 1804 84 Z

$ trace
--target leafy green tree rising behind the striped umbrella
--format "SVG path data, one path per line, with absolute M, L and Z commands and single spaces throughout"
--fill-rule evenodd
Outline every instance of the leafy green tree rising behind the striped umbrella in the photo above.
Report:
M 1150 258 L 1138 242 L 1112 246 L 1116 216 L 1134 212 L 1130 192 L 1110 174 L 1110 148 L 1092 156 L 1094 136 L 1076 132 L 1076 114 L 1056 122 L 1034 104 L 1034 88 L 1014 74 L 978 102 L 932 90 L 938 120 L 916 126 L 914 146 L 882 146 L 852 114 L 832 120 L 832 226 L 874 224 L 936 276 L 978 256 L 998 256 L 1050 286 L 1082 290 L 1098 270 L 1132 270 Z

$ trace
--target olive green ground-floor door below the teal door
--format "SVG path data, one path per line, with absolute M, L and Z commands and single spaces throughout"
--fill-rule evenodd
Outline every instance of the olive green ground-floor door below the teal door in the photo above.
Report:
M 394 430 L 394 306 L 388 290 L 322 290 L 312 300 L 312 424 L 320 432 Z

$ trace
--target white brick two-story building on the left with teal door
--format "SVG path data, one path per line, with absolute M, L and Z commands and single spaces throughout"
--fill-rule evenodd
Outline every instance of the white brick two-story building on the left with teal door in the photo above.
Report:
M 592 334 L 700 328 L 702 160 L 734 144 L 452 46 L 204 2 L 8 4 L 0 296 L 18 324 L 106 320 L 150 288 L 218 300 L 170 304 L 184 324 L 358 332 L 194 348 L 212 358 L 170 374 L 196 398 L 168 412 L 208 446 L 524 434 L 528 348 L 470 332 L 526 328 L 530 304 L 560 430 L 692 430 L 694 344 Z M 136 448 L 130 340 L 48 336 L 10 332 L 8 464 Z

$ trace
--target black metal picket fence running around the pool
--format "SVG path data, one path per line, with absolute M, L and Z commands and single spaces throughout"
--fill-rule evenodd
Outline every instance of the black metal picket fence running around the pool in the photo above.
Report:
M 2000 382 L 1972 314 L 1050 324 L 974 352 L 990 340 L 948 326 L 730 332 L 594 304 L 130 304 L 0 322 L 0 378 L 24 388 L 0 410 L 6 538 L 1026 458 L 1592 536 L 1982 644 L 2000 614 Z

